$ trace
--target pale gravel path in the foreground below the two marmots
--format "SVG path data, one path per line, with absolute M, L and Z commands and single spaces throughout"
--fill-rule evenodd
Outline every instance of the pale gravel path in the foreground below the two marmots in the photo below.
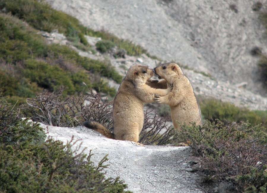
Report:
M 106 154 L 110 166 L 107 177 L 120 176 L 134 193 L 202 193 L 190 173 L 190 147 L 137 146 L 129 141 L 107 139 L 83 126 L 74 128 L 52 127 L 41 124 L 54 139 L 64 143 L 71 139 L 82 140 L 85 153 L 92 150 L 92 160 L 98 163 Z

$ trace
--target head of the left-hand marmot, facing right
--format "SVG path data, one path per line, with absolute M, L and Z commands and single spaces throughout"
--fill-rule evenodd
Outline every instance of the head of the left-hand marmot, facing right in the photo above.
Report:
M 154 76 L 153 69 L 151 69 L 147 65 L 134 64 L 128 70 L 125 79 L 134 82 L 134 84 L 145 84 L 146 81 L 149 80 L 152 76 Z

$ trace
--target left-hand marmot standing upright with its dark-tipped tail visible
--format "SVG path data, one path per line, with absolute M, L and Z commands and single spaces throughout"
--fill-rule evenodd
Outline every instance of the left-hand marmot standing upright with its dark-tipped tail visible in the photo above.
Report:
M 135 64 L 130 67 L 123 79 L 113 102 L 113 133 L 96 121 L 85 121 L 84 126 L 94 129 L 104 136 L 115 140 L 139 141 L 139 134 L 144 124 L 144 103 L 154 102 L 157 96 L 167 95 L 167 89 L 152 88 L 146 83 L 154 75 L 147 65 Z

